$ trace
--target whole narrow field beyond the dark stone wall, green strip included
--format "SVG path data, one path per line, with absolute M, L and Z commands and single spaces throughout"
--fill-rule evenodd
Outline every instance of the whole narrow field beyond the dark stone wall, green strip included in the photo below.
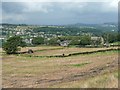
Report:
M 23 48 L 21 51 L 27 51 L 28 49 L 33 49 L 35 52 L 32 54 L 33 56 L 55 56 L 55 55 L 69 55 L 72 53 L 78 52 L 91 52 L 97 50 L 106 50 L 106 49 L 116 49 L 117 47 L 111 48 L 69 48 L 69 47 L 29 47 Z

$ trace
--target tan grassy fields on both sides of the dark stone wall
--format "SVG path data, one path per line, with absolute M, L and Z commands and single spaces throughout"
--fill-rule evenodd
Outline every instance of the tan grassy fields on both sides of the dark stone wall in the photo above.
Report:
M 116 48 L 116 47 L 112 47 Z M 28 48 L 23 48 L 26 51 Z M 33 48 L 32 48 L 33 49 Z M 34 47 L 32 55 L 49 56 L 110 48 Z M 25 54 L 26 55 L 26 54 Z M 5 88 L 117 88 L 118 52 L 107 51 L 70 57 L 2 57 Z

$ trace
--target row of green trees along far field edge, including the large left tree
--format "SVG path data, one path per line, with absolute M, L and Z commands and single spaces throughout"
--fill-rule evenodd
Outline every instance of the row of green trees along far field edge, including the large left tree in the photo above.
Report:
M 34 37 L 32 39 L 32 46 L 37 45 L 60 45 L 60 42 L 70 41 L 69 45 L 79 45 L 85 47 L 86 45 L 100 45 L 101 40 L 91 40 L 90 35 L 81 35 L 81 36 L 62 36 L 51 39 L 45 39 L 43 37 Z M 114 43 L 120 42 L 120 33 L 104 33 L 101 36 L 104 39 L 104 43 Z M 8 38 L 5 42 L 2 43 L 2 48 L 6 51 L 7 54 L 16 54 L 20 47 L 27 46 L 27 43 L 20 36 L 13 36 Z

